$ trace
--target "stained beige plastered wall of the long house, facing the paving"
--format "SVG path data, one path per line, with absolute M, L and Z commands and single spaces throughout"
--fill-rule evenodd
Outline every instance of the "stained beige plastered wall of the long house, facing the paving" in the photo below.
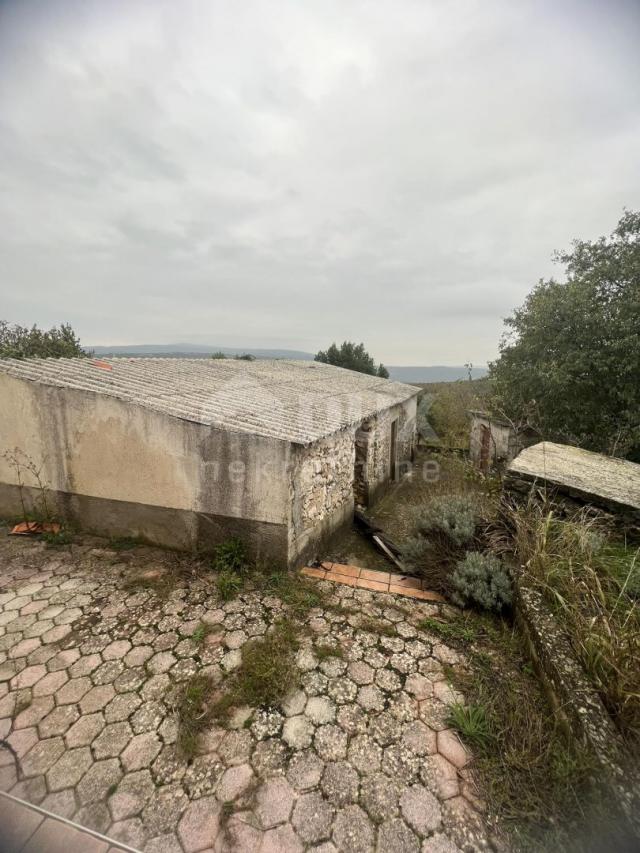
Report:
M 0 514 L 21 513 L 19 448 L 58 513 L 106 535 L 209 547 L 230 535 L 287 558 L 289 445 L 214 430 L 112 397 L 0 374 Z M 24 473 L 28 500 L 37 483 Z

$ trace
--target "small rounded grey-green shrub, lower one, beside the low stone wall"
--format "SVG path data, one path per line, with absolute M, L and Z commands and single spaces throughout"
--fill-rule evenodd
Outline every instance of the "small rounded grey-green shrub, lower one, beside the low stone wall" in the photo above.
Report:
M 469 551 L 457 564 L 451 583 L 451 597 L 461 607 L 475 604 L 500 613 L 511 604 L 511 578 L 504 564 L 490 554 Z

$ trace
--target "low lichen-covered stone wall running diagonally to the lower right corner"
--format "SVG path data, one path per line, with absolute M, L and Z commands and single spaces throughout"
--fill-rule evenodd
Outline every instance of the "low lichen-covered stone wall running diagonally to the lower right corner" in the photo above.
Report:
M 638 768 L 629 766 L 618 730 L 542 594 L 521 576 L 515 579 L 515 592 L 517 620 L 557 713 L 595 755 L 603 771 L 602 782 L 618 804 L 622 819 L 640 838 Z

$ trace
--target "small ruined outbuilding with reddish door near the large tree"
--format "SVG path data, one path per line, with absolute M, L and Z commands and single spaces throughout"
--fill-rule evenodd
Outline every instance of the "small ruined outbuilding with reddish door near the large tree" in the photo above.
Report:
M 539 434 L 529 426 L 518 427 L 487 412 L 469 414 L 469 458 L 485 474 L 494 468 L 505 468 L 523 448 L 540 440 Z

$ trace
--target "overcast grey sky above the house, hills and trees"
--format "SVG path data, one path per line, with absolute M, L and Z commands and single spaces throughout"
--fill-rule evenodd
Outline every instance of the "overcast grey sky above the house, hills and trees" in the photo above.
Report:
M 0 0 L 0 319 L 485 363 L 640 206 L 640 2 Z

